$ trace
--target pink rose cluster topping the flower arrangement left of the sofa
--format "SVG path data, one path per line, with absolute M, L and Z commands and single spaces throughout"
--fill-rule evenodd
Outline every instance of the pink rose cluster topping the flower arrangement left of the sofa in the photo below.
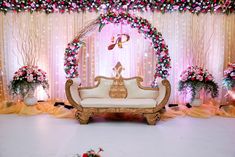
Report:
M 23 66 L 15 72 L 13 80 L 27 81 L 29 83 L 47 82 L 46 72 L 37 66 Z

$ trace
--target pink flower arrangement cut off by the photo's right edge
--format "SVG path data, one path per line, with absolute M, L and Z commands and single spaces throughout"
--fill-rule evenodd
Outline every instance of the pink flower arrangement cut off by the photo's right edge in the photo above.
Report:
M 235 63 L 229 64 L 225 69 L 223 86 L 228 90 L 235 88 Z

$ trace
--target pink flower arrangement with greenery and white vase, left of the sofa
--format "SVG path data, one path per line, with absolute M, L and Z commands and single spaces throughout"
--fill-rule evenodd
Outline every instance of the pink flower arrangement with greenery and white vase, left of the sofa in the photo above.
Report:
M 46 72 L 37 66 L 23 66 L 15 72 L 9 88 L 11 94 L 22 96 L 26 105 L 34 105 L 34 91 L 39 85 L 44 90 L 49 88 Z

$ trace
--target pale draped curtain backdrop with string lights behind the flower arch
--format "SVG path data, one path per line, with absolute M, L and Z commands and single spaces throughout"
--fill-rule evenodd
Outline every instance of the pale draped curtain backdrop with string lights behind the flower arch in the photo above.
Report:
M 172 69 L 169 80 L 172 85 L 170 103 L 184 102 L 184 96 L 177 91 L 180 73 L 189 65 L 207 68 L 220 87 L 218 100 L 224 102 L 222 90 L 223 70 L 229 62 L 235 61 L 235 15 L 191 13 L 139 13 L 160 31 L 169 47 Z M 38 66 L 48 73 L 49 95 L 55 101 L 64 101 L 65 73 L 64 52 L 67 44 L 77 32 L 97 18 L 99 13 L 7 13 L 0 16 L 0 99 L 10 99 L 7 86 L 14 72 L 23 63 L 17 42 L 22 38 L 17 32 L 32 29 L 37 32 L 41 49 Z M 127 33 L 130 41 L 108 51 L 112 36 Z M 36 42 L 37 40 L 35 40 Z M 97 75 L 112 76 L 112 68 L 120 61 L 125 68 L 124 77 L 141 76 L 144 85 L 150 85 L 156 66 L 156 56 L 151 42 L 144 39 L 137 30 L 125 25 L 109 24 L 101 32 L 94 31 L 85 41 L 79 53 L 79 72 L 83 86 L 94 84 Z M 46 99 L 38 89 L 39 99 Z

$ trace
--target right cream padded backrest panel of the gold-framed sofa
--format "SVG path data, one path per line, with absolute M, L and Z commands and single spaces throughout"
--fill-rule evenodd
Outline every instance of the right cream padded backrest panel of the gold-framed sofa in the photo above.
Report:
M 157 90 L 144 90 L 139 88 L 137 80 L 124 80 L 127 88 L 127 99 L 157 99 L 159 92 Z

